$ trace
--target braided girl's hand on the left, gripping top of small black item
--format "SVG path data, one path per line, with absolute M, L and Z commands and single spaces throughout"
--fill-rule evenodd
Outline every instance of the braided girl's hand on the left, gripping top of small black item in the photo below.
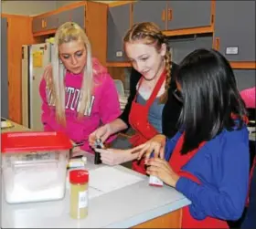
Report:
M 97 139 L 101 139 L 101 142 L 103 143 L 110 137 L 110 135 L 111 135 L 110 124 L 105 124 L 104 126 L 101 126 L 100 128 L 93 131 L 89 135 L 89 144 L 92 148 L 95 148 L 95 142 Z

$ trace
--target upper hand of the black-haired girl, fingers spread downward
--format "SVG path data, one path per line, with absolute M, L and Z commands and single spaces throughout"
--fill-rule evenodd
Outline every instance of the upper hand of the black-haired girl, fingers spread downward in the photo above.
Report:
M 163 134 L 157 134 L 151 140 L 146 141 L 144 143 L 144 148 L 139 152 L 138 160 L 141 159 L 143 155 L 145 155 L 145 163 L 150 158 L 151 153 L 154 151 L 155 158 L 165 157 L 165 140 L 166 137 Z

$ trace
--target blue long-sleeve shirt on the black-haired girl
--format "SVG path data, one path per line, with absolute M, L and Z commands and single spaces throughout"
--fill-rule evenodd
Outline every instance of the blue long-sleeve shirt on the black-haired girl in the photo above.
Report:
M 176 136 L 166 141 L 165 158 L 176 146 Z M 223 130 L 208 141 L 182 168 L 201 182 L 180 177 L 176 190 L 191 201 L 189 212 L 197 219 L 207 216 L 237 220 L 244 209 L 249 185 L 249 134 L 241 130 Z

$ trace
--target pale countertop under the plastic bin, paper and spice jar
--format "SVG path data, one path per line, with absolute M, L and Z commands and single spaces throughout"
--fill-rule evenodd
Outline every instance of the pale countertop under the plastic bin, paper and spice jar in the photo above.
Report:
M 8 131 L 14 130 L 22 130 L 22 127 L 17 125 Z M 90 155 L 86 166 L 89 171 L 105 166 L 94 165 L 92 160 L 93 156 Z M 63 200 L 45 203 L 8 204 L 3 196 L 2 227 L 128 228 L 190 204 L 174 188 L 166 185 L 162 188 L 152 187 L 148 185 L 148 177 L 123 166 L 114 168 L 133 173 L 144 180 L 90 199 L 89 214 L 82 220 L 69 217 L 69 191 Z

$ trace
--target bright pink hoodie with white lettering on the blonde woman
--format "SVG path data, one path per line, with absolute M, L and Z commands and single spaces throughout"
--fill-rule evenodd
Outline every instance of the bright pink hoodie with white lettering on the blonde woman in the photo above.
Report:
M 70 140 L 75 142 L 84 141 L 80 149 L 83 151 L 91 151 L 88 143 L 88 136 L 92 131 L 96 130 L 102 124 L 115 120 L 120 114 L 120 104 L 118 100 L 117 90 L 114 81 L 103 68 L 100 62 L 93 58 L 93 69 L 95 88 L 92 93 L 92 105 L 89 116 L 84 116 L 78 120 L 78 101 L 80 96 L 80 88 L 82 82 L 82 74 L 74 75 L 70 72 L 66 73 L 64 78 L 66 86 L 66 127 L 61 126 L 55 115 L 55 106 L 48 103 L 50 95 L 46 88 L 46 81 L 42 78 L 39 93 L 42 103 L 42 122 L 45 131 L 63 131 Z M 108 141 L 112 141 L 110 138 Z

